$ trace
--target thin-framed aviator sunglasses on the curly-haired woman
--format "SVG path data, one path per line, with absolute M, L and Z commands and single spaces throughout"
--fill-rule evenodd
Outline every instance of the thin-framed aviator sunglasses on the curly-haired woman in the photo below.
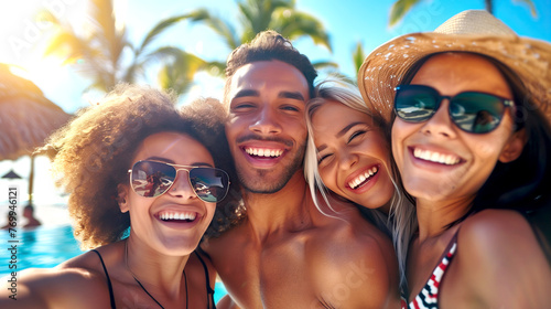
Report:
M 128 170 L 130 187 L 141 196 L 155 198 L 171 189 L 180 170 L 187 171 L 193 191 L 205 202 L 219 202 L 228 193 L 229 177 L 220 169 L 177 166 L 158 161 L 136 162 L 132 169 Z

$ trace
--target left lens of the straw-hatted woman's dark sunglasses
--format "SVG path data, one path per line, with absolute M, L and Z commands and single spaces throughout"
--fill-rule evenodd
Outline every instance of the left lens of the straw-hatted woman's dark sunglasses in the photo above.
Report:
M 437 109 L 439 94 L 425 86 L 408 85 L 399 87 L 395 97 L 395 110 L 400 119 L 408 122 L 426 121 Z

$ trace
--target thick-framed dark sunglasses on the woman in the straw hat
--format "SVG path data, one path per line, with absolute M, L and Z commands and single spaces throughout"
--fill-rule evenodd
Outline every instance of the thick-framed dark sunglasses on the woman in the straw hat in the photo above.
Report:
M 505 109 L 514 100 L 495 95 L 465 92 L 453 97 L 442 96 L 433 87 L 402 85 L 396 87 L 395 110 L 407 122 L 429 120 L 444 98 L 450 100 L 450 118 L 460 129 L 469 134 L 486 134 L 501 122 Z

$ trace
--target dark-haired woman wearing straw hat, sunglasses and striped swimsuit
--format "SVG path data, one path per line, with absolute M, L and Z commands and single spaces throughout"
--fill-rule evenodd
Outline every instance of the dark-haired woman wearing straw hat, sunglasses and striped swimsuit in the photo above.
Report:
M 365 60 L 360 92 L 392 122 L 392 154 L 417 203 L 410 308 L 551 303 L 550 65 L 551 44 L 485 11 Z

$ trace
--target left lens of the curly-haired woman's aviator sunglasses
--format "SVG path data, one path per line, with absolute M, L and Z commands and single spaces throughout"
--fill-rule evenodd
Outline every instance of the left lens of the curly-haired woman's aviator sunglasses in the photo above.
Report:
M 130 181 L 136 193 L 145 198 L 154 198 L 166 192 L 175 178 L 176 170 L 171 166 L 139 161 L 132 167 Z

